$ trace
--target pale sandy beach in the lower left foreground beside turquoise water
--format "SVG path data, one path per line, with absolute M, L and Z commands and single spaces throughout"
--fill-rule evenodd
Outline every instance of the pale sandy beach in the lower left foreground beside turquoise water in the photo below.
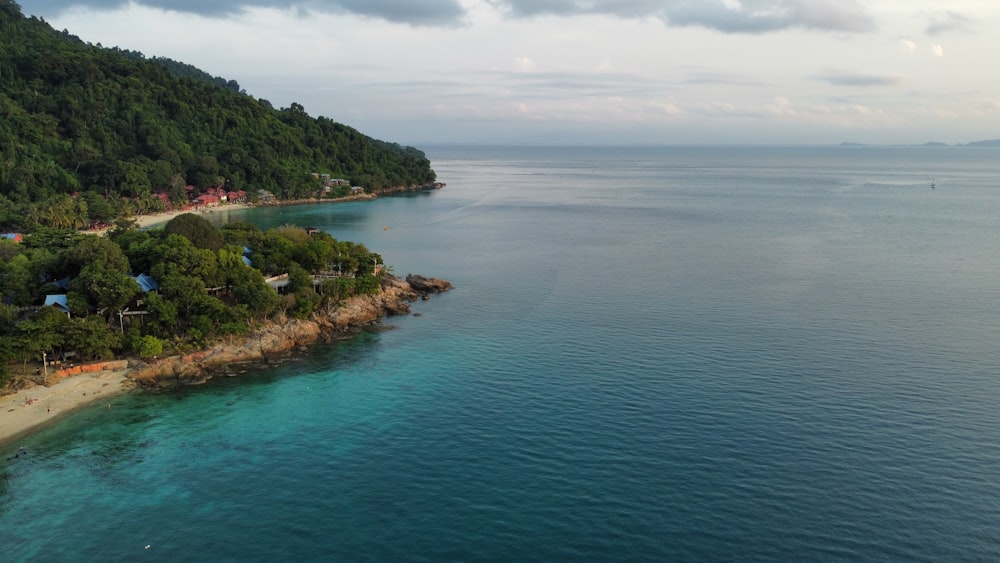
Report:
M 128 370 L 100 371 L 63 378 L 55 385 L 38 385 L 0 397 L 0 447 L 31 430 L 91 403 L 114 404 L 132 388 Z

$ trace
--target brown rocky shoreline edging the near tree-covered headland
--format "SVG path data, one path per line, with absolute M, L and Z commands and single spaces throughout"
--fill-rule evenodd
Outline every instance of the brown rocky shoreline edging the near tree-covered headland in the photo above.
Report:
M 410 274 L 401 279 L 387 274 L 382 279 L 382 290 L 376 295 L 351 297 L 313 313 L 308 319 L 270 321 L 238 342 L 154 362 L 136 362 L 130 366 L 128 377 L 145 388 L 197 385 L 228 365 L 266 362 L 276 355 L 377 323 L 387 315 L 408 314 L 410 303 L 450 289 L 451 283 L 438 278 Z

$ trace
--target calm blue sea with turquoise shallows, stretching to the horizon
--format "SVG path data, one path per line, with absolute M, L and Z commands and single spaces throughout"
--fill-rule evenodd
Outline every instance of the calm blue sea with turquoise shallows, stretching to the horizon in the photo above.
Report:
M 1000 151 L 427 152 L 213 219 L 455 290 L 11 446 L 0 559 L 1000 560 Z

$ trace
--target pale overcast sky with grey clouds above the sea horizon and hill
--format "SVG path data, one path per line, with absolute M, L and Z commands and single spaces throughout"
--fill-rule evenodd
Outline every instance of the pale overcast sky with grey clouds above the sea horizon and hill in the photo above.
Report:
M 389 141 L 1000 138 L 997 0 L 19 0 Z

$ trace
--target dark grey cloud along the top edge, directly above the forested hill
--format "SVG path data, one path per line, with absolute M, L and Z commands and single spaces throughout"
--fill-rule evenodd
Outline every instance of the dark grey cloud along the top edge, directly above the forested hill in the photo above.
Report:
M 115 10 L 133 3 L 128 0 L 22 0 L 26 14 L 54 16 L 69 8 Z M 174 12 L 222 17 L 249 8 L 275 8 L 299 13 L 351 13 L 411 25 L 454 25 L 465 10 L 459 0 L 136 0 L 135 4 Z

